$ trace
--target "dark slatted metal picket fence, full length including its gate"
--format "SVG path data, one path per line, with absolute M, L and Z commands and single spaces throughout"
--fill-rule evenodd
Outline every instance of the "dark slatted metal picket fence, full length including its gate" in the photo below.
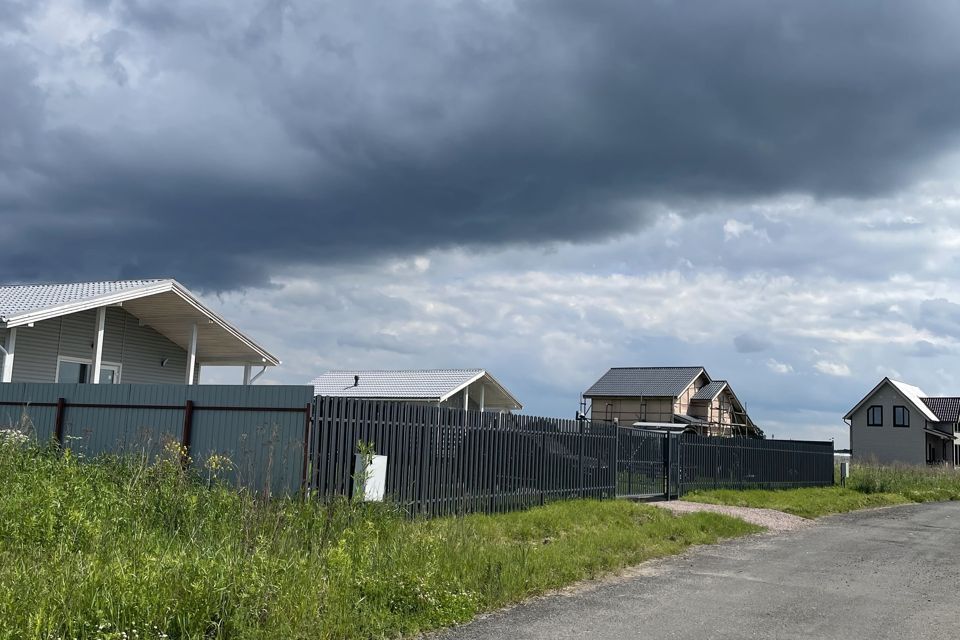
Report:
M 705 438 L 606 422 L 319 397 L 308 489 L 320 497 L 350 495 L 359 443 L 387 456 L 387 495 L 413 514 L 833 483 L 832 442 Z

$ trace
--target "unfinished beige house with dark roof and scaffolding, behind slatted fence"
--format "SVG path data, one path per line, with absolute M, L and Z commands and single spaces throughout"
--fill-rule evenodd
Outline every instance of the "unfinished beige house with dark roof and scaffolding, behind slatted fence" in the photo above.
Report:
M 592 420 L 662 428 L 685 425 L 700 435 L 748 435 L 760 430 L 726 380 L 703 367 L 615 367 L 583 394 Z

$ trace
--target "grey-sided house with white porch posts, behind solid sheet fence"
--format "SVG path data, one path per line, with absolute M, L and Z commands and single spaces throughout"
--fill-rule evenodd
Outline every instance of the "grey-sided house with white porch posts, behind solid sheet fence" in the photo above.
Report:
M 176 280 L 0 286 L 2 382 L 195 384 L 280 361 Z M 253 374 L 254 367 L 262 370 Z

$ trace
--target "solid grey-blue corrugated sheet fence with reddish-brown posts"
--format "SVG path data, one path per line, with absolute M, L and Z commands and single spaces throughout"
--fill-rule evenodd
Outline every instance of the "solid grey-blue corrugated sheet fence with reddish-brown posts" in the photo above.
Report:
M 305 480 L 312 403 L 309 386 L 8 383 L 0 425 L 27 415 L 38 440 L 59 437 L 88 457 L 151 460 L 168 442 L 186 445 L 201 473 L 212 454 L 225 455 L 227 479 L 292 493 Z

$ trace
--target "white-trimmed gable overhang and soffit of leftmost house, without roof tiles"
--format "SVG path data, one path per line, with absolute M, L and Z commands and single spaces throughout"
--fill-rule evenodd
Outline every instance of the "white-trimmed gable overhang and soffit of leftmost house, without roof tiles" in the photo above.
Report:
M 200 302 L 173 279 L 146 280 L 143 284 L 101 295 L 60 301 L 44 307 L 18 309 L 0 316 L 0 327 L 29 326 L 60 316 L 97 309 L 122 307 L 168 340 L 190 349 L 197 327 L 197 362 L 202 365 L 277 366 L 280 360 L 258 345 L 219 314 Z

